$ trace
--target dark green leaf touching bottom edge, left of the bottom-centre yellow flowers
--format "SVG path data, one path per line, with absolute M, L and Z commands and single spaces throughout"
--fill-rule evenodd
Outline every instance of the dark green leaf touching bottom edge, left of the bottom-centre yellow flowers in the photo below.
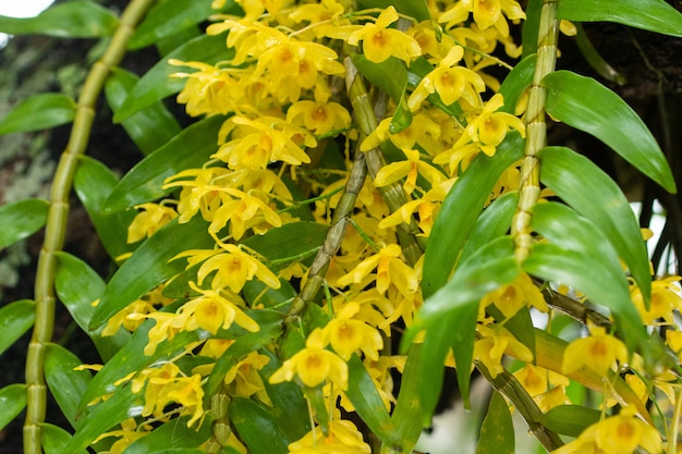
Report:
M 253 454 L 287 454 L 289 443 L 270 415 L 269 408 L 245 397 L 230 403 L 230 420 Z

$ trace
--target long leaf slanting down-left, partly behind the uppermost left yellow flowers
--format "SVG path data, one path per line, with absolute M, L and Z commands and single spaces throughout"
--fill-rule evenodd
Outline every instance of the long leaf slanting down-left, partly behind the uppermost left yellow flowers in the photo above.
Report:
M 218 61 L 230 60 L 234 50 L 226 49 L 224 34 L 210 36 L 202 35 L 184 46 L 170 52 L 165 59 L 151 68 L 133 88 L 121 109 L 113 115 L 113 121 L 119 123 L 135 112 L 180 91 L 184 85 L 184 78 L 171 77 L 171 74 L 192 71 L 183 66 L 173 66 L 168 60 L 200 61 L 208 64 Z

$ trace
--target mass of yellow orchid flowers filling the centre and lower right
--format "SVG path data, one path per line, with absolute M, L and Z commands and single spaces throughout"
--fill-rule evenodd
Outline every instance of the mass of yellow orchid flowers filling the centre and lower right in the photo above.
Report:
M 215 0 L 214 8 L 224 2 Z M 303 393 L 309 417 L 290 453 L 376 452 L 376 441 L 360 429 L 364 415 L 355 414 L 362 397 L 352 395 L 353 368 L 366 370 L 391 413 L 406 368 L 399 343 L 424 305 L 424 245 L 443 199 L 477 156 L 494 157 L 508 136 L 526 136 L 527 93 L 509 105 L 499 91 L 511 69 L 504 61 L 521 56 L 512 32 L 526 14 L 514 0 L 433 0 L 419 21 L 394 7 L 350 0 L 236 3 L 243 14 L 217 14 L 206 28 L 224 36 L 216 63 L 170 62 L 172 77 L 185 81 L 178 101 L 187 114 L 223 118 L 215 152 L 168 177 L 170 196 L 138 206 L 129 229 L 129 243 L 137 243 L 170 222 L 203 222 L 212 246 L 176 255 L 172 260 L 185 270 L 105 329 L 133 332 L 154 320 L 148 356 L 175 336 L 194 336 L 180 355 L 121 378 L 118 384 L 144 394 L 144 406 L 142 418 L 107 434 L 118 438 L 110 452 L 122 452 L 156 422 L 184 416 L 193 428 L 214 420 L 206 452 L 246 453 L 224 406 L 242 397 L 275 408 L 269 390 L 283 385 Z M 373 78 L 391 65 L 409 74 L 399 96 L 386 93 L 389 82 Z M 486 205 L 519 191 L 520 165 L 501 173 Z M 282 257 L 272 254 L 279 245 L 258 242 L 288 226 L 294 245 L 310 246 Z M 682 354 L 679 279 L 654 282 L 650 304 L 633 282 L 631 297 L 646 324 L 669 327 L 666 342 Z M 473 364 L 455 365 L 452 355 L 446 364 L 480 367 L 492 380 L 512 367 L 541 412 L 580 404 L 571 383 L 592 373 L 601 417 L 556 452 L 660 452 L 659 428 L 642 404 L 622 398 L 616 372 L 637 402 L 663 393 L 657 402 L 665 415 L 680 407 L 677 373 L 640 373 L 642 358 L 612 335 L 608 319 L 590 320 L 589 334 L 562 358 L 539 364 L 508 321 L 532 308 L 551 323 L 547 292 L 556 291 L 522 272 L 488 293 L 478 307 Z M 240 340 L 268 329 L 272 315 L 279 328 L 268 342 L 244 349 Z M 232 357 L 227 368 L 219 366 L 226 357 Z M 621 412 L 613 410 L 617 403 Z M 666 438 L 677 429 L 675 421 L 666 425 Z

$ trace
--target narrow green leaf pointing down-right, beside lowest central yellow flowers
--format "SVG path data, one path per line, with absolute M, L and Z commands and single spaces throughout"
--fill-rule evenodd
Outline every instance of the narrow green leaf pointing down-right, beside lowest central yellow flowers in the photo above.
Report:
M 355 407 L 355 412 L 372 433 L 383 443 L 400 443 L 400 439 L 395 437 L 395 427 L 365 365 L 357 355 L 353 355 L 348 365 L 349 388 L 345 395 Z

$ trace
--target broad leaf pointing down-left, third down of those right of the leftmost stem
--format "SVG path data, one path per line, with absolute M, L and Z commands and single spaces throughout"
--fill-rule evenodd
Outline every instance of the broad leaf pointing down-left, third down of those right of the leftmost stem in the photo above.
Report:
M 147 238 L 115 272 L 95 309 L 89 328 L 96 329 L 146 292 L 181 272 L 186 260 L 172 260 L 188 249 L 207 249 L 214 240 L 200 217 L 180 224 L 173 220 Z

